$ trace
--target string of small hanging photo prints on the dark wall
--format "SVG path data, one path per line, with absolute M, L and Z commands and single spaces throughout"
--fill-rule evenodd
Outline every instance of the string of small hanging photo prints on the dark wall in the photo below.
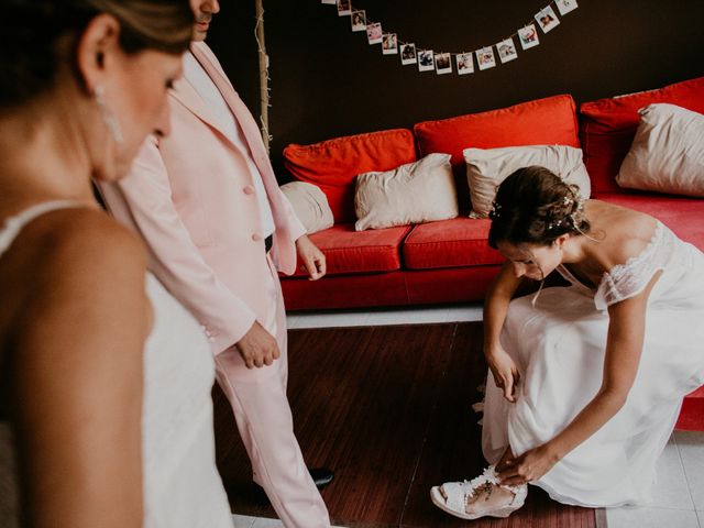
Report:
M 496 55 L 498 55 L 501 64 L 514 61 L 518 58 L 514 37 L 518 37 L 522 51 L 530 50 L 540 44 L 536 26 L 540 28 L 544 34 L 560 24 L 560 19 L 552 9 L 553 3 L 558 8 L 560 16 L 564 16 L 578 8 L 576 0 L 553 0 L 538 11 L 530 22 L 494 45 L 484 46 L 474 52 L 438 53 L 416 46 L 413 42 L 404 42 L 396 33 L 383 30 L 381 22 L 369 20 L 363 9 L 352 7 L 351 0 L 321 0 L 321 3 L 337 6 L 339 16 L 350 16 L 352 31 L 365 31 L 369 43 L 381 44 L 384 55 L 399 55 L 403 65 L 417 64 L 419 72 L 435 70 L 438 75 L 453 72 L 452 57 L 454 57 L 458 75 L 474 73 L 473 56 L 476 57 L 476 66 L 480 70 L 495 67 L 497 65 Z M 496 54 L 494 48 L 496 48 Z

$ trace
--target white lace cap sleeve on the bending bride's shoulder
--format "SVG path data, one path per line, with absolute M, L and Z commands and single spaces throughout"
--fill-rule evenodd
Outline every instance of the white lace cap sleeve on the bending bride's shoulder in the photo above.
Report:
M 624 264 L 617 264 L 604 273 L 594 296 L 596 309 L 605 310 L 610 305 L 640 294 L 652 276 L 666 268 L 676 243 L 674 233 L 661 222 L 648 245 Z

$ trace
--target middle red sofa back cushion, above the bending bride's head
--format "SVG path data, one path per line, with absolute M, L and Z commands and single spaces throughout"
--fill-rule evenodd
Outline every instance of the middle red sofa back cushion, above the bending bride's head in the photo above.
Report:
M 452 155 L 452 165 L 464 167 L 468 147 L 551 145 L 580 146 L 572 96 L 553 96 L 513 107 L 470 113 L 414 125 L 421 156 L 432 152 Z

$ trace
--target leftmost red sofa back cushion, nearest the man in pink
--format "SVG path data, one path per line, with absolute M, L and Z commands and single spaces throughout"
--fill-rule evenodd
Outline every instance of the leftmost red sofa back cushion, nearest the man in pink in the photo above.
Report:
M 394 129 L 349 135 L 284 148 L 284 165 L 301 182 L 326 194 L 336 222 L 353 222 L 354 178 L 370 170 L 391 170 L 416 161 L 410 130 Z

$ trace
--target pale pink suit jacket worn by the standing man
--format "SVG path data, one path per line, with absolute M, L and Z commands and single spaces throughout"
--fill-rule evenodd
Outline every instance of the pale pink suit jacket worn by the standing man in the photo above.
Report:
M 292 274 L 295 241 L 305 228 L 278 188 L 256 122 L 218 59 L 205 43 L 194 43 L 191 51 L 242 128 L 274 217 L 272 260 Z M 262 295 L 271 270 L 262 258 L 256 190 L 245 153 L 185 79 L 176 82 L 169 106 L 170 134 L 150 138 L 128 177 L 99 186 L 112 215 L 146 241 L 152 271 L 200 321 L 218 354 L 271 309 Z

